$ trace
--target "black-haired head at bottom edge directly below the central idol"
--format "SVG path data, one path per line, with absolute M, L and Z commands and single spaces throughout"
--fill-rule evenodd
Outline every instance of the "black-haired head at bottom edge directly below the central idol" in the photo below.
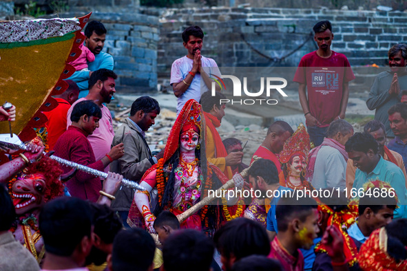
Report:
M 211 267 L 213 241 L 198 230 L 178 230 L 163 246 L 166 271 L 207 271 Z

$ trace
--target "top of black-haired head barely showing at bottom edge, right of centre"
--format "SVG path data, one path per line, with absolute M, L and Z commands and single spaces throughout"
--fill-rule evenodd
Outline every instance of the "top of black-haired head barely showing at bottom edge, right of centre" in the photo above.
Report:
M 280 262 L 264 255 L 250 255 L 233 264 L 231 271 L 282 271 Z

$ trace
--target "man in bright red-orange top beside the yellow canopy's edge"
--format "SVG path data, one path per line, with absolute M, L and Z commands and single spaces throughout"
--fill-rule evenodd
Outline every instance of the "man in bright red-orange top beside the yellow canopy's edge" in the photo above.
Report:
M 66 131 L 66 116 L 67 111 L 70 109 L 71 105 L 78 100 L 79 87 L 72 80 L 65 80 L 68 83 L 68 88 L 63 92 L 63 94 L 53 96 L 58 102 L 58 106 L 48 112 L 43 112 L 43 114 L 48 118 L 45 123 L 47 128 L 47 138 L 48 147 L 50 151 L 54 149 L 56 140 Z

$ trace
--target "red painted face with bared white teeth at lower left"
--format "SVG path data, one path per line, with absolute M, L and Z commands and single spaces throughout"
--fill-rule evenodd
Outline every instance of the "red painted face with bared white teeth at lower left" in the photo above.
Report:
M 12 185 L 13 204 L 17 215 L 28 213 L 45 204 L 45 176 L 42 173 L 21 175 Z

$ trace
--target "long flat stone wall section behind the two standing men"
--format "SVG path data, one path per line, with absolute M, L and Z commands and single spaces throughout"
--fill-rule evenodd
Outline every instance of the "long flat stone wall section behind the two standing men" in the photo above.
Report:
M 333 23 L 332 49 L 351 65 L 388 63 L 388 49 L 406 42 L 407 13 L 284 8 L 204 8 L 167 10 L 160 21 L 158 77 L 169 78 L 171 63 L 185 55 L 181 33 L 189 25 L 205 32 L 202 55 L 223 67 L 296 67 L 304 54 L 317 49 L 312 27 Z M 355 69 L 354 69 L 355 71 Z M 355 71 L 355 89 L 366 91 L 375 72 Z M 357 85 L 357 86 L 355 86 Z

